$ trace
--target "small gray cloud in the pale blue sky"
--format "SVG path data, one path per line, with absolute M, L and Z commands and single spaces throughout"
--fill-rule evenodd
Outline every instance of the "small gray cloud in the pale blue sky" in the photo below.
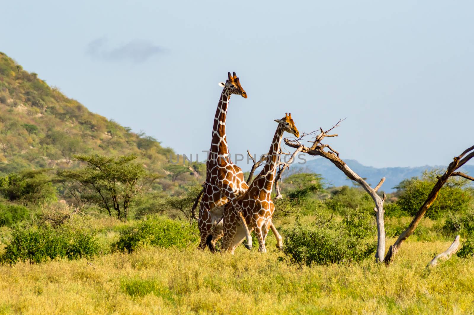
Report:
M 135 39 L 115 48 L 110 48 L 107 42 L 105 37 L 94 39 L 87 45 L 86 54 L 93 59 L 142 63 L 150 57 L 164 52 L 163 48 L 144 40 Z

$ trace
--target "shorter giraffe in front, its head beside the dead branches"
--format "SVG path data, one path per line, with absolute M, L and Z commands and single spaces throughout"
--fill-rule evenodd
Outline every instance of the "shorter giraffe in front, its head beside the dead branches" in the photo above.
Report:
M 296 137 L 300 136 L 300 132 L 294 125 L 292 114 L 285 114 L 282 119 L 275 119 L 278 123 L 275 135 L 273 136 L 272 145 L 268 151 L 268 159 L 263 170 L 258 174 L 255 180 L 250 184 L 246 193 L 238 198 L 238 204 L 245 216 L 246 223 L 250 231 L 255 229 L 258 236 L 258 251 L 266 252 L 265 238 L 271 227 L 275 236 L 280 236 L 272 223 L 273 212 L 275 206 L 270 198 L 272 194 L 273 182 L 275 180 L 275 172 L 278 167 L 280 144 L 282 142 L 283 133 L 289 132 Z M 224 239 L 223 250 L 234 253 L 238 244 L 244 240 L 246 233 L 243 225 L 238 222 L 239 217 L 232 211 L 231 205 L 226 205 L 224 209 Z M 281 241 L 277 236 L 277 240 Z

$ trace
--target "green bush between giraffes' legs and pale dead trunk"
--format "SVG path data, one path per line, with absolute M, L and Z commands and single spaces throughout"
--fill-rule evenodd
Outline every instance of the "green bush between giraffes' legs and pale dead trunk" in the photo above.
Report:
M 284 232 L 283 253 L 290 262 L 307 266 L 361 261 L 376 250 L 374 218 L 364 214 L 347 216 L 342 222 L 319 219 Z

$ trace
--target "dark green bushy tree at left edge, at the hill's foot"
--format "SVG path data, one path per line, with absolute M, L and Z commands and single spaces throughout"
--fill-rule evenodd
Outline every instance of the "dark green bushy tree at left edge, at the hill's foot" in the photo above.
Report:
M 48 169 L 10 173 L 0 178 L 0 193 L 11 201 L 50 203 L 57 200 Z

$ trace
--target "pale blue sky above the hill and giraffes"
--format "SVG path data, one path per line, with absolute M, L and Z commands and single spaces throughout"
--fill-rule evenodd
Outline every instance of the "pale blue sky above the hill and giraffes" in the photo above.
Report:
M 344 159 L 447 164 L 474 143 L 471 1 L 8 1 L 0 51 L 91 111 L 177 153 L 210 146 L 227 72 L 231 153 L 273 119 L 332 126 Z M 246 166 L 242 165 L 244 168 Z

